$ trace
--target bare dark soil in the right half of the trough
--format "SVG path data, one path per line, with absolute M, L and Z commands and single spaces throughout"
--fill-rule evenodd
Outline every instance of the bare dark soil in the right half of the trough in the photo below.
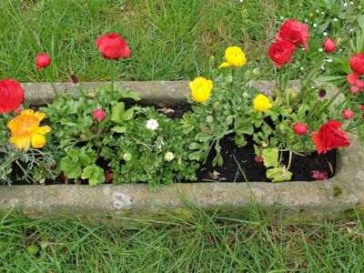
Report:
M 213 167 L 215 155 L 211 153 L 207 163 L 197 171 L 198 181 L 217 180 L 220 182 L 269 182 L 266 177 L 266 167 L 256 162 L 253 141 L 248 139 L 248 145 L 237 147 L 233 136 L 227 136 L 220 142 L 221 155 L 224 159 L 222 167 Z M 284 156 L 284 164 L 288 165 L 288 153 Z M 289 171 L 293 173 L 291 181 L 313 181 L 312 171 L 326 172 L 333 177 L 336 168 L 336 151 L 326 155 L 314 153 L 306 157 L 293 155 Z M 215 172 L 215 173 L 214 173 Z M 243 175 L 244 174 L 244 175 Z

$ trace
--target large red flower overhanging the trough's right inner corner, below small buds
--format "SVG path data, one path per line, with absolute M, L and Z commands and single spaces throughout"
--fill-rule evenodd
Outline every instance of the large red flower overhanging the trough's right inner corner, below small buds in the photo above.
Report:
M 339 130 L 341 126 L 341 122 L 330 120 L 319 128 L 319 133 L 311 133 L 312 140 L 319 154 L 326 154 L 331 149 L 348 147 L 350 145 L 347 133 Z

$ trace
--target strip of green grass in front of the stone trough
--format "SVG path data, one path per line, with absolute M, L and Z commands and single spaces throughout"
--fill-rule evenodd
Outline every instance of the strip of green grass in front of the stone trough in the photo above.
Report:
M 127 230 L 75 220 L 0 222 L 6 272 L 360 272 L 359 218 L 305 226 L 268 225 L 252 213 Z

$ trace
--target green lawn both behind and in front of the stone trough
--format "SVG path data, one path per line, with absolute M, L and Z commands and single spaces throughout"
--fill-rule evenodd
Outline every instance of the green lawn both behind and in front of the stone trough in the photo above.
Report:
M 82 81 L 108 80 L 109 62 L 99 56 L 95 40 L 116 32 L 133 52 L 118 64 L 119 79 L 208 76 L 211 56 L 219 63 L 227 45 L 242 46 L 248 69 L 269 79 L 274 73 L 267 57 L 269 43 L 278 26 L 294 17 L 308 20 L 312 37 L 307 57 L 312 62 L 322 54 L 324 33 L 339 42 L 325 71 L 344 78 L 349 56 L 364 45 L 358 38 L 362 14 L 363 1 L 350 5 L 331 0 L 3 0 L 0 74 L 22 82 L 50 77 L 69 81 L 71 74 Z M 35 56 L 43 51 L 53 59 L 47 70 L 50 75 L 35 69 Z M 299 76 L 300 60 L 293 66 Z M 336 84 L 342 86 L 343 80 Z M 362 105 L 363 95 L 353 97 L 351 107 Z M 364 139 L 363 129 L 360 134 Z M 359 272 L 364 264 L 364 229 L 359 217 L 302 226 L 268 224 L 257 211 L 239 218 L 245 220 L 209 217 L 197 209 L 188 222 L 176 219 L 163 227 L 128 230 L 91 227 L 70 219 L 27 220 L 9 215 L 0 222 L 0 269 Z

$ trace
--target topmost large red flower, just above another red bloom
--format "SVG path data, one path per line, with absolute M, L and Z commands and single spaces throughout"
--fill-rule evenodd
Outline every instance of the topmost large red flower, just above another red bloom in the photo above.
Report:
M 308 25 L 289 19 L 280 26 L 277 38 L 293 45 L 304 45 L 308 49 Z

